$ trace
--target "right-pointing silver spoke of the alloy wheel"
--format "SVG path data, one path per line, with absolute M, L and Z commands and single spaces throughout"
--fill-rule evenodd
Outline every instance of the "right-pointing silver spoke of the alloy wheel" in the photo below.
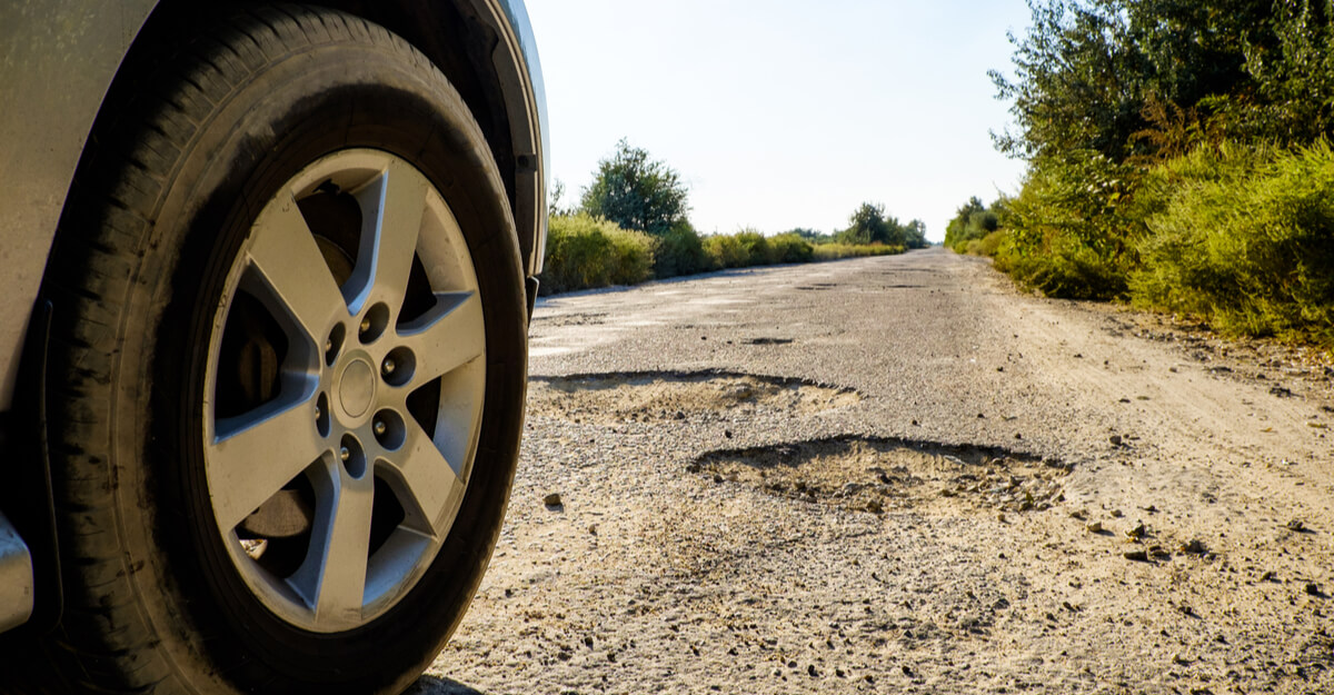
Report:
M 476 292 L 438 293 L 435 307 L 400 327 L 399 337 L 416 358 L 414 387 L 450 374 L 486 352 L 482 300 Z

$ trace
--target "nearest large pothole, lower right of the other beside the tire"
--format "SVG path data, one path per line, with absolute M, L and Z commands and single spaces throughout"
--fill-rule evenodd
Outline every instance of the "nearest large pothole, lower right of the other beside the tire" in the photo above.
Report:
M 999 448 L 860 436 L 715 451 L 688 470 L 715 483 L 874 514 L 940 503 L 1045 511 L 1065 502 L 1070 475 L 1059 462 Z

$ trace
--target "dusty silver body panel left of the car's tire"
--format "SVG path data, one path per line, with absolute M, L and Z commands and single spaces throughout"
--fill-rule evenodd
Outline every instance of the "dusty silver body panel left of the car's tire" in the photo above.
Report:
M 65 193 L 152 0 L 0 3 L 0 411 L 19 375 Z

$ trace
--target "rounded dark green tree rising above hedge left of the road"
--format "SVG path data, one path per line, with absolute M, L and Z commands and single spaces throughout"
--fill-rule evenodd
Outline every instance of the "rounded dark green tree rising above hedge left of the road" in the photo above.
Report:
M 616 152 L 598 163 L 592 185 L 584 188 L 584 212 L 611 220 L 627 229 L 655 236 L 686 220 L 686 187 L 680 175 L 648 152 L 630 147 L 624 139 Z

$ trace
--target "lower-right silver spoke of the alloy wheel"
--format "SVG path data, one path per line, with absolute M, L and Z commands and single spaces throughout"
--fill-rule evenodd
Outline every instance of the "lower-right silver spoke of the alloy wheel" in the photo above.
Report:
M 448 531 L 446 512 L 464 486 L 455 466 L 446 460 L 416 422 L 408 423 L 408 438 L 394 460 L 386 466 L 391 487 L 408 510 L 406 524 L 420 532 L 440 536 Z

